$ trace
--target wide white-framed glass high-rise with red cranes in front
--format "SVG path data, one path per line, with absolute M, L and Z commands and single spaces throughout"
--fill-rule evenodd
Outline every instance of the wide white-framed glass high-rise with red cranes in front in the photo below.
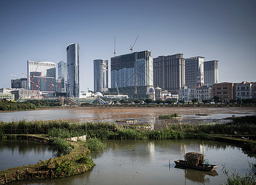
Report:
M 41 91 L 41 95 L 48 96 L 49 92 L 56 91 L 56 64 L 54 62 L 28 60 L 27 70 L 28 90 Z

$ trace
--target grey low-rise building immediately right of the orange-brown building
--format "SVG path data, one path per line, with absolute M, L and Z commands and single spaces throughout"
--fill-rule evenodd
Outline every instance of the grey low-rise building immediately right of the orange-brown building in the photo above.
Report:
M 236 84 L 236 99 L 250 99 L 252 98 L 252 83 L 242 81 Z

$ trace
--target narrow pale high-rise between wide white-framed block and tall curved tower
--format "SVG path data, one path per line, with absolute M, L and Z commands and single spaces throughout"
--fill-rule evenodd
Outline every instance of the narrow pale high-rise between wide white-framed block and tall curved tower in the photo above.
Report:
M 61 84 L 60 92 L 67 92 L 67 63 L 64 61 L 58 63 L 58 80 Z

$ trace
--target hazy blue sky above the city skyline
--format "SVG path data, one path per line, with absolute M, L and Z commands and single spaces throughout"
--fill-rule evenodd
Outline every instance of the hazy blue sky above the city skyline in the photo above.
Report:
M 255 0 L 1 0 L 0 88 L 27 73 L 27 60 L 58 64 L 67 45 L 79 43 L 80 91 L 93 90 L 93 60 L 110 65 L 114 37 L 121 55 L 137 35 L 134 51 L 200 55 L 220 61 L 220 82 L 256 81 L 255 9 Z

